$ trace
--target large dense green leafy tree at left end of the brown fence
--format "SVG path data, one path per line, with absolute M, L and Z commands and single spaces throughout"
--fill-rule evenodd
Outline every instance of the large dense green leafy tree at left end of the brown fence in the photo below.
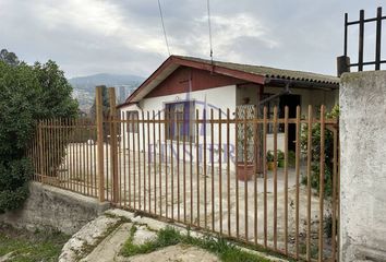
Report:
M 19 60 L 17 60 L 19 61 Z M 0 61 L 0 213 L 28 196 L 32 163 L 25 152 L 41 118 L 74 117 L 72 87 L 53 61 L 28 66 Z

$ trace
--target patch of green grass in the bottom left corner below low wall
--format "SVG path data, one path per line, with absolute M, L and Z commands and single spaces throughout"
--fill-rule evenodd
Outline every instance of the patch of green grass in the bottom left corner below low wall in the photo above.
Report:
M 0 258 L 9 254 L 10 259 L 7 261 L 10 262 L 58 261 L 69 238 L 58 231 L 28 233 L 0 226 Z

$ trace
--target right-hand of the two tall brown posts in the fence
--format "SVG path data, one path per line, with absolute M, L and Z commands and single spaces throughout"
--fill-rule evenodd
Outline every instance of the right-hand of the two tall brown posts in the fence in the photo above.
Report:
M 112 174 L 112 202 L 118 203 L 118 151 L 117 151 L 117 109 L 116 109 L 116 88 L 109 87 L 109 117 L 110 117 L 110 168 Z

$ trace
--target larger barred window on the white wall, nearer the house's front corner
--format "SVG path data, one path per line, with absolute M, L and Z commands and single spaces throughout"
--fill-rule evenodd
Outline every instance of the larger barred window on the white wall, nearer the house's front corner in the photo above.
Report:
M 194 142 L 194 102 L 166 104 L 165 119 L 167 139 Z

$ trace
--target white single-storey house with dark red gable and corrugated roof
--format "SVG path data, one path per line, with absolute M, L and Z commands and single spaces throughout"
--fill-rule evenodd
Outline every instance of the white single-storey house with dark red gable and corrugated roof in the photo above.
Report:
M 284 117 L 284 108 L 288 106 L 289 117 L 294 118 L 297 106 L 301 107 L 302 115 L 306 115 L 309 105 L 314 107 L 315 114 L 321 105 L 325 105 L 329 110 L 338 103 L 338 88 L 339 79 L 329 75 L 171 56 L 118 108 L 122 119 L 142 119 L 142 116 L 147 119 L 148 114 L 150 119 L 168 120 L 166 112 L 172 112 L 182 116 L 182 119 L 192 120 L 196 118 L 197 110 L 200 119 L 209 119 L 212 110 L 215 119 L 219 117 L 219 110 L 221 110 L 224 119 L 227 109 L 229 109 L 231 118 L 234 119 L 237 107 L 249 104 L 256 108 L 266 106 L 268 117 L 273 116 L 273 109 L 277 107 L 279 118 Z M 203 116 L 204 109 L 206 116 Z M 145 147 L 145 151 L 148 148 L 150 152 L 156 151 L 157 154 L 160 153 L 160 146 L 165 141 L 169 143 L 169 146 L 178 143 L 181 147 L 183 141 L 192 141 L 195 146 L 198 146 L 198 143 L 202 145 L 205 139 L 207 144 L 214 140 L 215 147 L 220 143 L 220 150 L 224 151 L 226 145 L 222 144 L 222 141 L 225 141 L 227 131 L 230 136 L 229 143 L 234 144 L 234 127 L 228 129 L 226 124 L 221 124 L 221 127 L 217 124 L 214 127 L 212 135 L 210 127 L 204 126 L 207 132 L 200 135 L 197 128 L 192 127 L 191 121 L 176 126 L 180 130 L 184 130 L 183 133 L 180 133 L 181 135 L 176 135 L 178 132 L 170 130 L 176 127 L 159 128 L 158 130 L 157 124 L 154 127 L 149 124 L 150 130 L 147 130 L 146 123 L 142 127 L 123 124 L 121 130 L 128 141 L 125 142 L 126 146 L 130 146 L 128 143 L 132 140 L 136 150 L 143 151 Z M 221 142 L 219 141 L 219 128 L 222 133 Z M 294 151 L 294 126 L 289 127 L 288 148 L 290 151 Z M 203 127 L 200 127 L 198 132 L 202 129 Z M 272 127 L 268 128 L 268 133 L 272 131 L 270 129 Z M 148 138 L 146 138 L 147 133 L 149 133 Z M 148 144 L 156 145 L 156 147 L 150 150 Z M 280 127 L 277 146 L 279 150 L 285 147 Z M 273 139 L 269 134 L 267 148 L 273 148 Z M 194 148 L 192 150 L 196 152 Z M 172 151 L 169 152 L 169 156 L 174 155 Z M 210 154 L 214 151 L 216 151 L 214 147 L 207 148 L 208 158 L 212 157 Z M 195 158 L 195 153 L 191 152 L 189 157 Z M 197 157 L 200 158 L 202 155 Z M 227 155 L 224 154 L 222 159 L 224 157 Z

